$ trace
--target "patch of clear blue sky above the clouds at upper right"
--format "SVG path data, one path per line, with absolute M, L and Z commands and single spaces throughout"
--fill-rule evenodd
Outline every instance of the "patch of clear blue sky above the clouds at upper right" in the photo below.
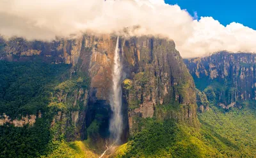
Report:
M 221 24 L 239 22 L 256 30 L 256 1 L 255 0 L 164 0 L 168 4 L 178 4 L 198 18 L 213 17 Z

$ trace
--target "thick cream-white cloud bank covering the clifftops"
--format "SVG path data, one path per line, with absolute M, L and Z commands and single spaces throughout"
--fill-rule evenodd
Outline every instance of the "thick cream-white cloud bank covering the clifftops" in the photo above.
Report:
M 52 40 L 92 30 L 112 33 L 140 26 L 134 35 L 172 38 L 184 58 L 227 50 L 256 52 L 256 31 L 212 17 L 199 20 L 163 0 L 1 0 L 0 35 Z

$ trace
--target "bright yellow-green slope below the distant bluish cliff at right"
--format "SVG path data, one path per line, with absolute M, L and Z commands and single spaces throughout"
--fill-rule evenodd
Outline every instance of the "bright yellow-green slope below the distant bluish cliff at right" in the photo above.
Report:
M 212 106 L 207 113 L 199 115 L 202 130 L 216 141 L 208 141 L 221 154 L 232 157 L 256 155 L 256 111 L 253 106 L 224 111 Z

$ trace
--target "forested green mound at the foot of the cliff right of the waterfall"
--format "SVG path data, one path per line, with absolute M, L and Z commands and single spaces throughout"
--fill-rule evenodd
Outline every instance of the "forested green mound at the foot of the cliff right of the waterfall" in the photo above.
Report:
M 172 120 L 149 120 L 147 128 L 135 134 L 122 157 L 198 157 L 198 146 Z

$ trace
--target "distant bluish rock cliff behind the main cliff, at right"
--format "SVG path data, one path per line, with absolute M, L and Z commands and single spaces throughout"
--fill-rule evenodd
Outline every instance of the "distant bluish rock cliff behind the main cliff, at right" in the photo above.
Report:
M 256 54 L 228 52 L 184 59 L 197 88 L 224 109 L 255 100 L 255 62 Z

